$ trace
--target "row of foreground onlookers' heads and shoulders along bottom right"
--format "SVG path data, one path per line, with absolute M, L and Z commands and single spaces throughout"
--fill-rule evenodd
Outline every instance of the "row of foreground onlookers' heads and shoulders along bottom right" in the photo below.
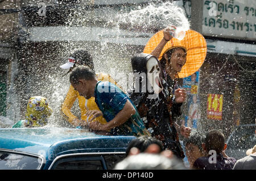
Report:
M 130 142 L 126 158 L 114 169 L 256 170 L 256 145 L 246 151 L 246 157 L 236 160 L 225 154 L 226 144 L 221 131 L 211 130 L 206 136 L 193 131 L 184 144 L 189 168 L 171 150 L 164 150 L 159 140 L 142 136 Z

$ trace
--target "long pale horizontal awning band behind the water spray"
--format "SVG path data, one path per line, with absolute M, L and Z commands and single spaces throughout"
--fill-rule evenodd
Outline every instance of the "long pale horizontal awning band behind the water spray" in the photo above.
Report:
M 104 43 L 145 45 L 151 33 L 101 27 L 31 27 L 30 41 L 101 41 Z

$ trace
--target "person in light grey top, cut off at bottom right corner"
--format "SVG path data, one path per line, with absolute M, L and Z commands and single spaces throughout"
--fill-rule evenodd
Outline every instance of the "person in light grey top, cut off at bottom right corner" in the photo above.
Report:
M 234 170 L 256 170 L 256 145 L 246 151 L 247 156 L 238 159 L 234 165 Z

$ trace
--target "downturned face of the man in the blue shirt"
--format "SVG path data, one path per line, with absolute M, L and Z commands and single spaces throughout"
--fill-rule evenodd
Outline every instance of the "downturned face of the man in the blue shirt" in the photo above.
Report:
M 79 92 L 79 95 L 84 96 L 85 99 L 90 99 L 94 94 L 94 87 L 89 80 L 80 79 L 79 83 L 74 84 L 71 82 L 71 85 Z

